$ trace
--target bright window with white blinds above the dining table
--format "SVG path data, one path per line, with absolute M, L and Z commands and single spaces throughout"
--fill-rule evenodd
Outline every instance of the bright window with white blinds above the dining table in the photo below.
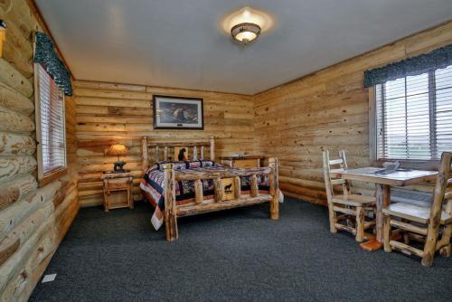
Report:
M 452 151 L 452 65 L 374 92 L 376 159 L 438 160 Z

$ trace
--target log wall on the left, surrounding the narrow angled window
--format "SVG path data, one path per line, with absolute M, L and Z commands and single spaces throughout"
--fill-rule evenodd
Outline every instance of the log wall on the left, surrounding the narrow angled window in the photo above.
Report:
M 46 31 L 32 2 L 0 1 L 0 300 L 26 300 L 79 209 L 75 104 L 66 99 L 69 175 L 38 188 L 33 33 Z

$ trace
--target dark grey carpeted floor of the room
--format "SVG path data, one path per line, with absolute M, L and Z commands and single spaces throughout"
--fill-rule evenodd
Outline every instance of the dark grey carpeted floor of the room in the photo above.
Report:
M 151 207 L 82 209 L 31 301 L 452 301 L 452 259 L 366 252 L 328 231 L 326 208 L 287 200 L 186 217 L 178 241 Z

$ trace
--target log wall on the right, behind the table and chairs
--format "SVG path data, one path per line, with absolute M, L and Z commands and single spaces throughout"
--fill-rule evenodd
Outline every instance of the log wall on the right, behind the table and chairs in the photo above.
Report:
M 451 42 L 448 22 L 254 96 L 255 146 L 261 154 L 279 158 L 280 188 L 325 204 L 325 149 L 336 156 L 345 149 L 351 167 L 371 165 L 369 93 L 363 88 L 363 72 Z M 372 184 L 356 185 L 358 191 L 372 193 Z M 431 186 L 415 189 L 429 191 Z

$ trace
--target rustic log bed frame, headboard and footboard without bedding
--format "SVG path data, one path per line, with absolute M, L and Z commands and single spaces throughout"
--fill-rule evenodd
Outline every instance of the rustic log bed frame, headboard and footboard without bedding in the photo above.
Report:
M 149 167 L 149 149 L 154 148 L 155 161 L 160 160 L 161 148 L 164 149 L 164 160 L 168 160 L 168 152 L 174 147 L 192 148 L 193 159 L 204 159 L 205 147 L 209 147 L 210 159 L 215 158 L 215 143 L 214 138 L 210 137 L 209 142 L 191 142 L 191 143 L 151 143 L 148 137 L 142 138 L 142 168 L 143 173 Z M 201 150 L 201 156 L 198 156 L 198 149 Z M 190 150 L 187 150 L 187 152 Z M 252 169 L 237 169 L 228 172 L 197 172 L 190 171 L 184 173 L 182 171 L 174 171 L 174 166 L 171 163 L 164 164 L 165 173 L 165 232 L 166 240 L 174 241 L 178 238 L 177 218 L 186 215 L 199 214 L 204 212 L 215 212 L 227 210 L 231 208 L 257 204 L 269 203 L 270 219 L 278 220 L 279 218 L 279 199 L 278 199 L 278 159 L 272 157 L 268 159 L 268 166 Z M 257 175 L 268 175 L 269 192 L 259 193 Z M 251 177 L 250 194 L 241 194 L 240 190 L 240 176 Z M 223 200 L 221 179 L 233 178 L 235 187 L 235 199 Z M 213 180 L 214 184 L 214 199 L 203 200 L 202 180 Z M 175 203 L 175 186 L 177 181 L 194 181 L 195 188 L 195 203 L 176 205 Z

